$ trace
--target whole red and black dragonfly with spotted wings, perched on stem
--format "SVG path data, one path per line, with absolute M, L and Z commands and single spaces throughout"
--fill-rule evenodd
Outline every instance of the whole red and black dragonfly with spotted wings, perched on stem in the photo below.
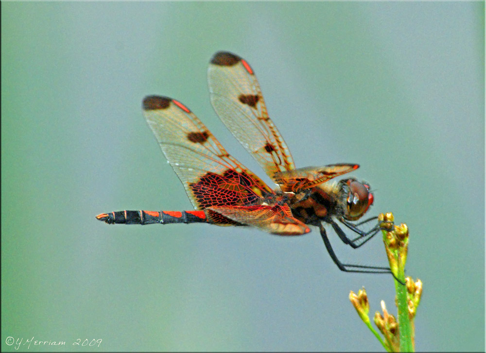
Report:
M 380 223 L 367 232 L 359 228 L 377 217 L 353 223 L 373 203 L 368 184 L 355 178 L 330 182 L 359 165 L 295 168 L 285 141 L 268 116 L 253 69 L 238 55 L 226 51 L 214 54 L 208 68 L 208 85 L 217 115 L 278 188 L 272 190 L 233 158 L 184 104 L 167 97 L 148 96 L 143 100 L 145 118 L 195 210 L 125 210 L 102 213 L 96 218 L 109 224 L 244 225 L 277 235 L 303 235 L 311 232 L 309 226 L 316 226 L 339 269 L 391 273 L 385 267 L 342 263 L 324 228 L 324 224 L 330 224 L 339 238 L 353 248 L 363 245 L 381 229 Z M 337 222 L 357 236 L 349 238 Z

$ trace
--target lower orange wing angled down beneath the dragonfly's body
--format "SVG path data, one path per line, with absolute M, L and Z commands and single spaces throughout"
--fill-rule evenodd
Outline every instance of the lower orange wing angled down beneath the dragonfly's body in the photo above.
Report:
M 208 219 L 213 223 L 224 223 L 230 219 L 238 224 L 260 228 L 265 232 L 278 235 L 302 235 L 311 229 L 292 216 L 289 205 L 254 205 L 254 206 L 215 206 L 207 210 Z M 223 216 L 218 217 L 219 215 Z

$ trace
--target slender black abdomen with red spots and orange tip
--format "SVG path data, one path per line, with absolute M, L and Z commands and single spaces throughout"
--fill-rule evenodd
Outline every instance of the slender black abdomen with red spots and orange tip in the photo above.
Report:
M 204 211 L 115 211 L 96 216 L 108 224 L 167 224 L 208 222 Z

